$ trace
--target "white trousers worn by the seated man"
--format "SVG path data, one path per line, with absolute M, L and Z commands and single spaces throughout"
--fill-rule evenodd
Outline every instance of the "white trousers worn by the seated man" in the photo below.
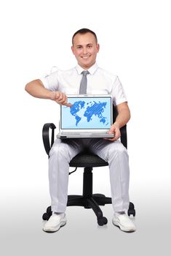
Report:
M 52 211 L 65 212 L 68 200 L 69 162 L 85 146 L 108 162 L 114 211 L 127 211 L 130 203 L 127 149 L 119 140 L 103 139 L 55 140 L 49 152 L 49 192 Z

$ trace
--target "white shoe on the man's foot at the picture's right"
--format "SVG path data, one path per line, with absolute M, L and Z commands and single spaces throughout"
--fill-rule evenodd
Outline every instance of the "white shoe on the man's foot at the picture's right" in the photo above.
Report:
M 112 222 L 124 232 L 134 232 L 136 230 L 135 224 L 127 214 L 115 213 Z

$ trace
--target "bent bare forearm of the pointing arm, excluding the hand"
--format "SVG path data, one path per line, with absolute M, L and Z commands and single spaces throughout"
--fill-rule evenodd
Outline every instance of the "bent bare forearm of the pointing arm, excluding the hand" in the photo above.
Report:
M 51 99 L 52 91 L 47 90 L 41 80 L 33 80 L 27 83 L 25 86 L 25 91 L 31 94 L 33 97 L 41 99 Z

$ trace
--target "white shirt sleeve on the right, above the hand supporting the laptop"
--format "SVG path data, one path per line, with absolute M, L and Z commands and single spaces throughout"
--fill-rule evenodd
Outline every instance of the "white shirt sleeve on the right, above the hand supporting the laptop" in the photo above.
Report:
M 119 105 L 123 102 L 127 102 L 127 97 L 124 93 L 122 83 L 120 82 L 118 77 L 116 77 L 116 80 L 114 81 L 111 95 L 113 98 L 114 106 Z

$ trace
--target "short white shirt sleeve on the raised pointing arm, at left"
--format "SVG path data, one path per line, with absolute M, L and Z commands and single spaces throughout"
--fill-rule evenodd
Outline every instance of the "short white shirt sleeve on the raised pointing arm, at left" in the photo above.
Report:
M 52 72 L 50 75 L 46 75 L 43 78 L 40 78 L 44 87 L 49 91 L 58 91 L 59 81 L 58 81 L 58 72 Z

